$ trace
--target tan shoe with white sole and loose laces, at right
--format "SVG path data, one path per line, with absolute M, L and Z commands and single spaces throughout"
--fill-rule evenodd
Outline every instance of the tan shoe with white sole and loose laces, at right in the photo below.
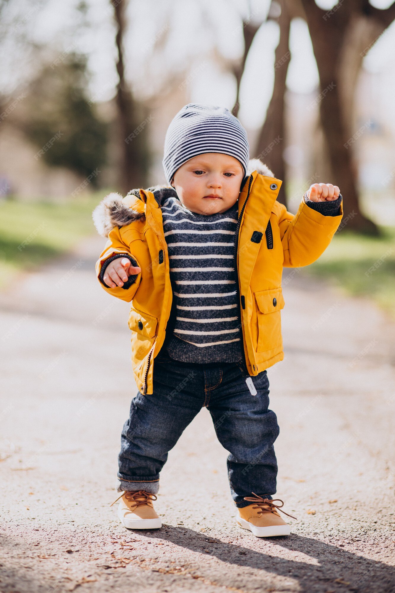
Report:
M 282 500 L 279 498 L 270 500 L 258 496 L 253 492 L 254 496 L 244 496 L 244 500 L 251 501 L 252 504 L 238 508 L 238 517 L 236 519 L 237 525 L 243 529 L 252 531 L 256 537 L 276 537 L 276 535 L 289 535 L 291 528 L 283 521 L 277 512 L 283 506 Z M 275 502 L 281 502 L 281 505 L 275 505 Z M 285 511 L 281 511 L 288 515 Z M 288 515 L 292 517 L 292 515 Z M 295 517 L 292 517 L 295 519 Z

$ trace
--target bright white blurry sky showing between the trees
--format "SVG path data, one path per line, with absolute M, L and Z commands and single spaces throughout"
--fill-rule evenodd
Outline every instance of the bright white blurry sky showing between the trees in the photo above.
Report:
M 34 38 L 39 42 L 56 43 L 59 52 L 75 45 L 76 49 L 90 56 L 92 79 L 90 95 L 97 100 L 113 96 L 117 82 L 114 62 L 114 29 L 112 8 L 109 0 L 88 0 L 90 27 L 82 28 L 76 35 L 75 5 L 78 0 L 64 2 L 50 0 L 44 9 L 33 10 L 30 3 L 20 0 L 18 10 L 27 20 Z M 262 21 L 266 17 L 269 0 L 251 0 L 253 18 Z M 330 9 L 336 2 L 320 0 L 321 8 Z M 377 8 L 386 8 L 388 0 L 372 0 Z M 129 78 L 139 93 L 149 95 L 158 88 L 158 81 L 166 79 L 167 73 L 182 71 L 192 60 L 191 101 L 222 104 L 229 109 L 235 100 L 234 78 L 221 72 L 208 60 L 216 45 L 224 59 L 237 59 L 243 51 L 243 33 L 238 14 L 246 10 L 244 0 L 138 0 L 130 4 L 130 31 L 126 40 L 126 59 Z M 26 12 L 27 9 L 27 12 Z M 29 16 L 29 11 L 31 16 Z M 157 58 L 150 59 L 152 46 L 158 33 L 165 30 L 166 14 L 170 15 L 170 37 Z M 203 19 L 206 18 L 206 21 Z M 297 19 L 291 25 L 291 62 L 286 83 L 297 93 L 311 93 L 318 86 L 316 62 L 308 36 L 307 25 Z M 274 50 L 278 43 L 278 27 L 274 23 L 263 24 L 254 39 L 247 60 L 246 72 L 241 85 L 241 109 L 239 117 L 247 127 L 260 126 L 265 118 L 267 104 L 273 87 Z M 7 62 L 7 59 L 4 60 Z M 3 63 L 4 63 L 3 62 Z M 20 75 L 23 73 L 21 63 Z M 10 62 L 11 64 L 11 62 Z M 149 69 L 148 69 L 149 65 Z M 5 76 L 7 77 L 7 65 Z M 26 62 L 25 68 L 28 68 Z M 395 23 L 388 28 L 364 59 L 364 68 L 380 74 L 377 77 L 378 110 L 383 110 L 392 120 L 395 103 Z M 15 64 L 8 76 L 14 76 Z M 4 75 L 3 75 L 4 76 Z M 7 81 L 7 79 L 6 79 Z

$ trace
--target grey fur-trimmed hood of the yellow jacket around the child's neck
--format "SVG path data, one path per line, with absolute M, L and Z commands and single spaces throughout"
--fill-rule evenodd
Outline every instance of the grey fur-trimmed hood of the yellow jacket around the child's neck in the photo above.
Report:
M 251 158 L 247 168 L 246 177 L 250 176 L 253 171 L 257 171 L 260 175 L 265 177 L 274 177 L 272 171 L 259 158 Z M 244 181 L 246 180 L 244 177 Z M 178 199 L 176 190 L 171 186 L 154 186 L 146 189 L 148 192 L 154 194 L 155 200 L 161 206 L 168 197 L 176 197 Z M 139 189 L 132 189 L 126 196 L 136 196 L 141 199 Z M 92 213 L 92 218 L 97 232 L 101 237 L 108 237 L 109 232 L 114 227 L 126 227 L 130 222 L 136 220 L 144 220 L 145 213 L 139 212 L 126 203 L 125 199 L 116 192 L 109 193 L 96 206 Z

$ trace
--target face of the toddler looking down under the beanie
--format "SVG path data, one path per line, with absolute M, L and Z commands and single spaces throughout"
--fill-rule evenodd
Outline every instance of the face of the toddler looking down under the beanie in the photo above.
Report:
M 184 162 L 174 173 L 171 185 L 188 210 L 210 215 L 234 205 L 243 177 L 244 170 L 237 158 L 205 152 Z

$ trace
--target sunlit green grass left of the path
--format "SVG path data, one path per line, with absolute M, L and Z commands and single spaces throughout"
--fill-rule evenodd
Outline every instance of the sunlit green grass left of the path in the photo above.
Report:
M 105 193 L 62 203 L 0 202 L 0 288 L 96 233 L 92 211 Z

